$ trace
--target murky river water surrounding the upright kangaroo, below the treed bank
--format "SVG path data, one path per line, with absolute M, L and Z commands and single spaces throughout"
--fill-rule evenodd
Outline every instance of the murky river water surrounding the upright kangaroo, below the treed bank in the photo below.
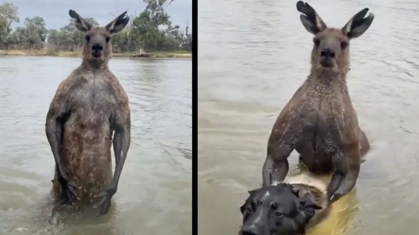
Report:
M 0 235 L 191 234 L 190 60 L 111 60 L 131 109 L 131 145 L 114 207 L 101 218 L 93 210 L 47 223 L 54 160 L 45 115 L 58 84 L 80 62 L 0 57 Z

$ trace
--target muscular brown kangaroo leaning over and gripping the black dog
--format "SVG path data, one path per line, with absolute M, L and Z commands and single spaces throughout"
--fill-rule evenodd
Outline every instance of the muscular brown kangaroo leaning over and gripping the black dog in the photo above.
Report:
M 361 158 L 370 149 L 349 98 L 349 41 L 367 31 L 374 15 L 368 8 L 355 14 L 341 29 L 328 28 L 317 12 L 303 1 L 297 10 L 304 28 L 314 34 L 311 69 L 307 79 L 285 105 L 273 125 L 262 170 L 262 184 L 284 180 L 295 149 L 305 167 L 315 173 L 333 172 L 329 200 L 351 191 Z

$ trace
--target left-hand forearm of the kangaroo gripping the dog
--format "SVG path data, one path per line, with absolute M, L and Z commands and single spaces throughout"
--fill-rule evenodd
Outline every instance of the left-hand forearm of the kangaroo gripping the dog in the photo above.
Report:
M 268 154 L 262 170 L 262 185 L 269 186 L 285 179 L 288 173 L 289 165 L 287 158 L 293 152 L 293 146 L 281 143 L 279 146 L 273 146 L 277 143 L 268 145 Z

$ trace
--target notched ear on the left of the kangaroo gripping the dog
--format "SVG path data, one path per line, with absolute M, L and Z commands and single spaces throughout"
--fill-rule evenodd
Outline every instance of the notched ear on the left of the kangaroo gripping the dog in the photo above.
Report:
M 300 20 L 304 28 L 311 34 L 317 34 L 327 28 L 325 22 L 307 2 L 298 1 L 297 10 L 301 12 Z

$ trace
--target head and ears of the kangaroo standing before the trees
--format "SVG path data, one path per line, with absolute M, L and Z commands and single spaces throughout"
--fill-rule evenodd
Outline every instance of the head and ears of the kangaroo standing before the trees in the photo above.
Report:
M 115 18 L 105 27 L 92 27 L 76 11 L 69 14 L 76 19 L 76 28 L 84 33 L 83 60 L 92 66 L 106 65 L 112 52 L 112 34 L 121 32 L 129 21 L 126 12 Z

